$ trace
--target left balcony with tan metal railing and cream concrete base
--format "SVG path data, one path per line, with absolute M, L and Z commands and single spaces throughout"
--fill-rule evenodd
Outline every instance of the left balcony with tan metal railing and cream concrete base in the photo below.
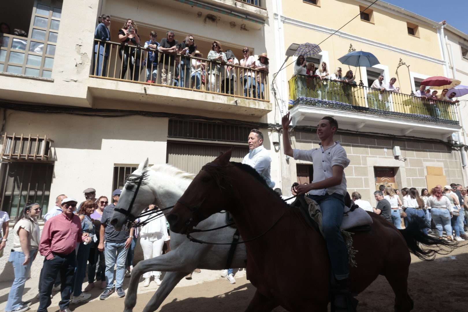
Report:
M 89 75 L 89 89 L 95 97 L 128 101 L 138 98 L 140 102 L 257 117 L 271 111 L 268 74 L 263 71 L 126 44 L 95 42 L 102 44 L 109 55 L 106 64 L 95 56 L 97 65 Z M 127 55 L 128 61 L 124 62 L 119 53 Z M 154 54 L 159 63 L 146 61 Z M 263 79 L 263 83 L 253 79 L 250 92 L 244 94 L 244 75 Z

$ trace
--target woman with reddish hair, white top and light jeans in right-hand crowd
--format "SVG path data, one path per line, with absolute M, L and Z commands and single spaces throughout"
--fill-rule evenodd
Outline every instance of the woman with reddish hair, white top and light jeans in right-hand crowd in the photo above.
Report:
M 436 231 L 439 239 L 442 239 L 442 231 L 445 229 L 447 240 L 452 239 L 452 225 L 450 219 L 452 218 L 452 204 L 450 200 L 442 194 L 442 189 L 433 188 L 431 196 L 427 199 L 427 205 L 431 207 L 431 218 L 436 224 Z

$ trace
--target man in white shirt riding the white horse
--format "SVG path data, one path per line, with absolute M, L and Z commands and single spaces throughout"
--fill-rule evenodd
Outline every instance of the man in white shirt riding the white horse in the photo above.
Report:
M 263 133 L 257 129 L 252 129 L 249 134 L 249 150 L 242 160 L 243 164 L 247 164 L 254 168 L 258 174 L 265 179 L 269 187 L 273 188 L 275 182 L 271 180 L 271 157 L 270 153 L 263 147 Z

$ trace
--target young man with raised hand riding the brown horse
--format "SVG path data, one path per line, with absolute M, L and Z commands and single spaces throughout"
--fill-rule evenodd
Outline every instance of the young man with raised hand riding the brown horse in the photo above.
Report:
M 316 201 L 322 210 L 322 228 L 325 234 L 331 267 L 336 280 L 336 294 L 349 297 L 349 268 L 346 243 L 340 232 L 343 220 L 346 178 L 344 168 L 350 160 L 333 135 L 338 130 L 337 121 L 325 116 L 317 125 L 320 147 L 312 150 L 292 149 L 289 142 L 288 126 L 291 123 L 289 112 L 281 120 L 283 126 L 283 147 L 286 155 L 295 160 L 311 161 L 314 166 L 314 180 L 296 187 L 298 195 L 307 194 Z M 355 299 L 354 299 L 355 300 Z

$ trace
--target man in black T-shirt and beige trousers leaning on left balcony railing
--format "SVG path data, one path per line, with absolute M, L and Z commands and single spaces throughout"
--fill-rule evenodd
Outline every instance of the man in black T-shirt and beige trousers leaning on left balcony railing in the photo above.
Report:
M 168 52 L 163 53 L 159 60 L 159 75 L 158 75 L 158 83 L 163 85 L 172 86 L 174 80 L 174 63 L 175 63 L 175 54 L 178 49 L 179 42 L 174 39 L 174 31 L 168 30 L 166 32 L 166 38 L 162 38 L 159 44 L 159 51 L 160 52 Z

